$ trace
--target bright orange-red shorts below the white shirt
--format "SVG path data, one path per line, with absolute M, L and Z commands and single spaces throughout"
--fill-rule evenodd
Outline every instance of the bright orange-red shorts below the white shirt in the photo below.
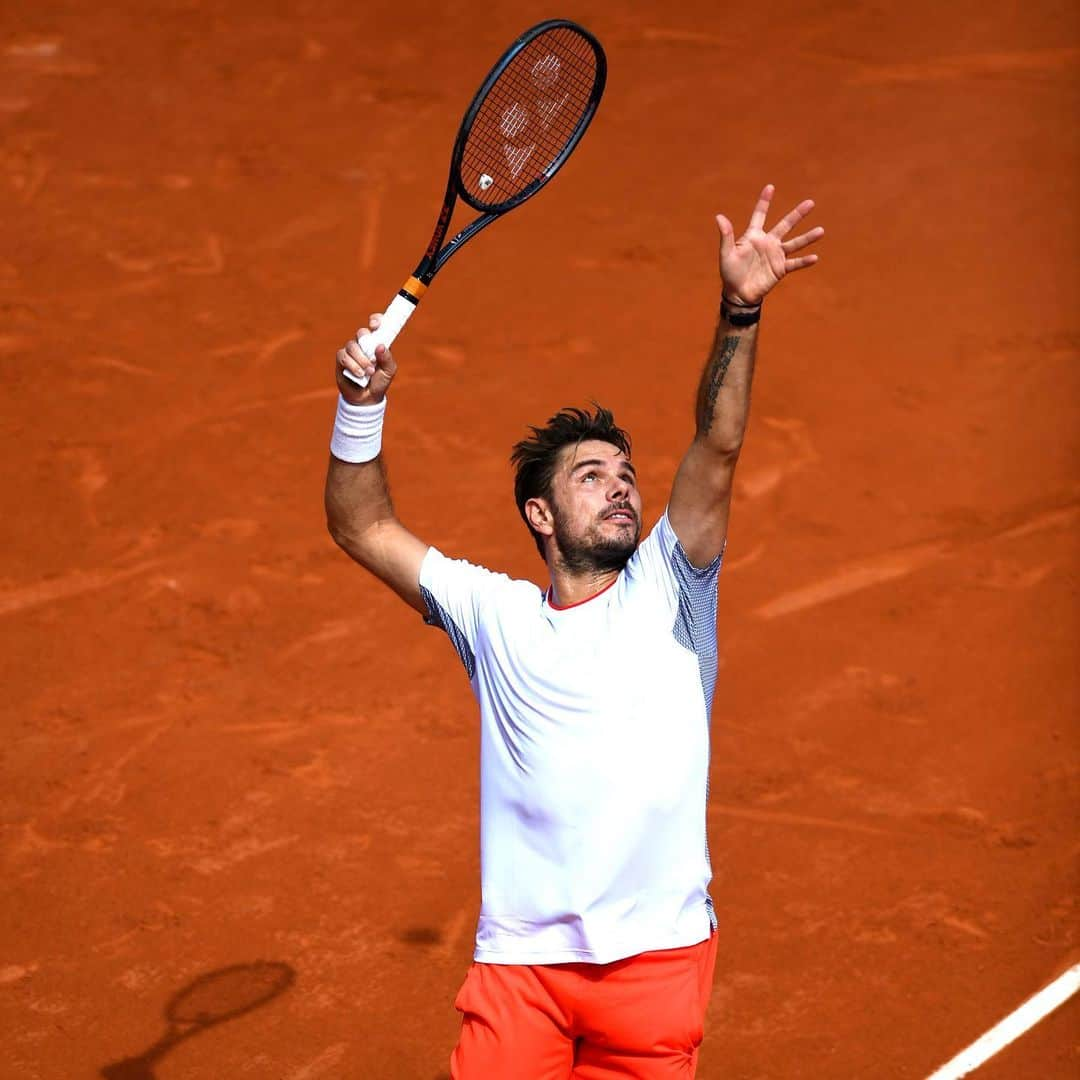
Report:
M 451 1080 L 692 1077 L 717 934 L 613 963 L 473 963 Z

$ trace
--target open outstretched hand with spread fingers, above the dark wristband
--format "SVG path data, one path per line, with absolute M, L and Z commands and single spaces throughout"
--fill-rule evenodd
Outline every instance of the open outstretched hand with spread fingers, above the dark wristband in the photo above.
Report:
M 812 199 L 805 199 L 768 232 L 765 231 L 765 219 L 774 191 L 771 184 L 761 189 L 750 225 L 738 240 L 731 222 L 723 214 L 716 215 L 720 230 L 724 295 L 737 305 L 753 307 L 760 303 L 785 274 L 818 261 L 816 255 L 794 258 L 793 255 L 825 234 L 820 226 L 791 240 L 784 239 L 813 210 Z

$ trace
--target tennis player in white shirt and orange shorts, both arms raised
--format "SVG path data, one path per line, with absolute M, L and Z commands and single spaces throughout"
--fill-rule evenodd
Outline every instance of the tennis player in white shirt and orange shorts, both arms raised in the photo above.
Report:
M 693 1076 L 716 957 L 716 579 L 761 301 L 816 261 L 796 253 L 824 232 L 787 239 L 809 200 L 766 232 L 772 193 L 738 240 L 716 218 L 720 318 L 697 428 L 640 544 L 630 438 L 610 413 L 563 409 L 514 448 L 546 591 L 448 559 L 396 519 L 378 456 L 396 363 L 382 346 L 374 361 L 356 341 L 338 351 L 329 531 L 446 631 L 481 706 L 482 907 L 455 1080 Z

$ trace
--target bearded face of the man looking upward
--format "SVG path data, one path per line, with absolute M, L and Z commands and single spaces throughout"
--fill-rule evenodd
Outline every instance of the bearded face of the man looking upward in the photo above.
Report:
M 552 483 L 551 514 L 569 570 L 621 570 L 642 535 L 642 496 L 634 467 L 599 440 L 564 447 Z

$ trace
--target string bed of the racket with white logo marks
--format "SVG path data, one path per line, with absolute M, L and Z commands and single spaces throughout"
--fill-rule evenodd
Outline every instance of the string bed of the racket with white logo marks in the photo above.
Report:
M 530 41 L 485 96 L 465 140 L 461 181 L 498 206 L 548 174 L 590 114 L 598 77 L 592 43 L 569 27 Z

